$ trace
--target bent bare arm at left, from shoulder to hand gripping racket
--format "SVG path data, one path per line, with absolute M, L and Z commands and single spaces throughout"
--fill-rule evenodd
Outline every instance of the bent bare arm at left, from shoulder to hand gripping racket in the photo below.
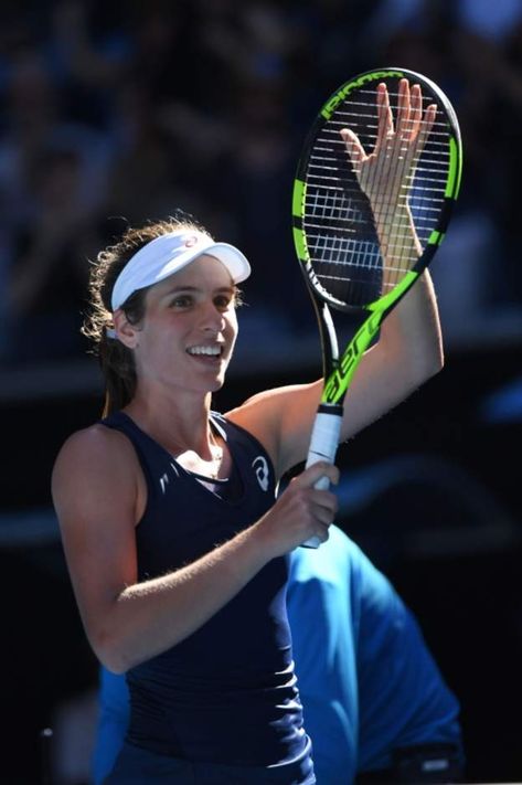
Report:
M 274 556 L 311 533 L 327 538 L 334 497 L 311 467 L 259 521 L 198 561 L 138 583 L 135 527 L 143 478 L 125 436 L 104 426 L 75 434 L 53 471 L 58 516 L 85 630 L 106 667 L 122 672 L 194 633 Z M 173 521 L 175 526 L 175 521 Z

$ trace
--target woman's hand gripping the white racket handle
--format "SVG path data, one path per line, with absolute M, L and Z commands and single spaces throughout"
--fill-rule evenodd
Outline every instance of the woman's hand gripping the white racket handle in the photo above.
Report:
M 274 507 L 258 521 L 271 558 L 292 551 L 298 545 L 318 537 L 328 540 L 328 529 L 338 510 L 338 500 L 331 490 L 315 486 L 321 477 L 337 485 L 339 469 L 327 462 L 318 462 L 295 477 L 277 499 Z

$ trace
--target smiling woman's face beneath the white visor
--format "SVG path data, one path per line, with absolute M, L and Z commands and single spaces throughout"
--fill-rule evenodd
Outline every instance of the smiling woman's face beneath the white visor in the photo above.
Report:
M 152 286 L 136 331 L 138 383 L 219 390 L 237 337 L 235 296 L 228 270 L 209 255 Z

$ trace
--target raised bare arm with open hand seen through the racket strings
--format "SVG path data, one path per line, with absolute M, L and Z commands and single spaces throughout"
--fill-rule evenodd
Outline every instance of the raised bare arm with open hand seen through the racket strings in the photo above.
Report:
M 407 203 L 415 159 L 435 120 L 436 107 L 422 112 L 418 85 L 400 87 L 394 125 L 387 92 L 377 89 L 379 130 L 366 153 L 350 129 L 341 131 L 361 189 L 372 204 L 385 270 L 409 269 L 420 253 Z M 385 273 L 386 274 L 386 273 Z M 386 286 L 386 280 L 384 280 Z M 384 321 L 377 344 L 363 357 L 344 402 L 341 438 L 347 439 L 407 397 L 443 367 L 443 343 L 428 273 Z M 268 391 L 228 416 L 252 431 L 270 452 L 280 474 L 306 458 L 322 383 Z

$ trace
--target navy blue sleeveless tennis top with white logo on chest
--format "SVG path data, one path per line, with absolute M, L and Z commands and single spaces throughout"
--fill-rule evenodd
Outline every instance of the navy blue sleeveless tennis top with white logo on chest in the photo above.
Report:
M 128 436 L 147 480 L 136 529 L 139 581 L 193 562 L 274 503 L 274 467 L 259 442 L 221 415 L 211 421 L 232 455 L 231 495 L 205 487 L 125 413 L 102 421 Z M 174 757 L 253 766 L 303 753 L 287 579 L 288 558 L 273 559 L 194 634 L 128 671 L 129 742 Z

